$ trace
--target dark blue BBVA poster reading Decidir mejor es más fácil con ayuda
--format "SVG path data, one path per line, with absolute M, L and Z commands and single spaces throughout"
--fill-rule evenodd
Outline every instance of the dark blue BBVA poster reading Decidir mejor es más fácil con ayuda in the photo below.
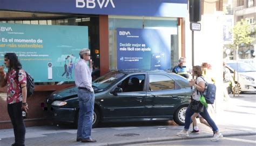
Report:
M 171 34 L 164 30 L 117 28 L 117 68 L 171 68 Z

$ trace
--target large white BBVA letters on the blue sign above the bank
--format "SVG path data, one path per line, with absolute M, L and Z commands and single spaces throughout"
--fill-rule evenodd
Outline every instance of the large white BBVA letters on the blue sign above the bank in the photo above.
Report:
M 105 3 L 105 0 L 102 0 L 101 2 L 100 2 L 100 0 L 97 0 L 97 3 L 95 1 L 96 0 L 76 0 L 76 8 L 85 8 L 86 7 L 89 9 L 93 9 L 93 8 L 95 8 L 96 4 L 98 4 L 99 8 L 102 9 L 103 5 Z M 104 7 L 106 8 L 107 5 L 109 5 L 109 3 L 111 3 L 113 8 L 116 8 L 116 6 L 114 6 L 113 0 L 106 0 Z

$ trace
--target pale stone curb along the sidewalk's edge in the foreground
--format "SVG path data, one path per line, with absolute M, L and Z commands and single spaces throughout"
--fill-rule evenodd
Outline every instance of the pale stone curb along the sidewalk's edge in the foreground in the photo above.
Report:
M 256 131 L 251 132 L 223 132 L 224 137 L 231 136 L 246 136 L 246 135 L 256 135 Z M 140 140 L 127 140 L 127 141 L 118 141 L 118 142 L 107 142 L 107 143 L 95 143 L 90 145 L 129 145 L 129 144 L 139 144 L 139 143 L 151 143 L 151 142 L 162 142 L 162 141 L 177 141 L 177 140 L 191 140 L 197 138 L 211 138 L 212 134 L 204 134 L 203 136 L 190 136 L 190 137 L 157 137 L 157 138 L 143 138 Z M 88 144 L 86 144 L 88 145 Z

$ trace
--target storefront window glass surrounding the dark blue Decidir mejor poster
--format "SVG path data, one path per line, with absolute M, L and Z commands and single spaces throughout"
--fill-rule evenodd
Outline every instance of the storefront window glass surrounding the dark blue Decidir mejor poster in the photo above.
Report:
M 171 34 L 171 67 L 178 60 L 177 18 L 109 16 L 110 69 L 117 69 L 117 28 L 146 28 L 168 31 Z M 161 38 L 165 39 L 165 38 Z

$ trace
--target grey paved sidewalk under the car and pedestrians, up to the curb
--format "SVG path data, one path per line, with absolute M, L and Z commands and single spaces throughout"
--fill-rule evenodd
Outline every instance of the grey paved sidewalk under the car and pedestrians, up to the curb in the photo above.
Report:
M 254 100 L 255 101 L 255 100 Z M 255 103 L 244 105 L 243 101 L 234 105 L 232 102 L 228 108 L 224 109 L 222 114 L 213 116 L 220 132 L 226 136 L 237 135 L 256 135 L 255 123 Z M 240 104 L 240 105 L 239 105 Z M 233 105 L 233 106 L 232 106 Z M 226 105 L 225 105 L 226 106 Z M 199 122 L 199 120 L 198 120 Z M 64 126 L 39 126 L 26 128 L 26 145 L 121 145 L 135 144 L 145 142 L 182 140 L 183 137 L 176 136 L 176 133 L 183 129 L 183 126 L 134 126 L 134 127 L 111 127 L 92 129 L 92 138 L 97 143 L 76 142 L 76 129 L 66 128 Z M 213 136 L 209 127 L 198 124 L 200 134 L 190 134 L 188 138 L 210 138 Z M 191 127 L 192 128 L 192 127 Z M 0 145 L 11 145 L 14 142 L 14 133 L 12 129 L 0 130 Z M 187 138 L 186 138 L 187 139 Z M 213 142 L 214 145 L 214 142 Z

